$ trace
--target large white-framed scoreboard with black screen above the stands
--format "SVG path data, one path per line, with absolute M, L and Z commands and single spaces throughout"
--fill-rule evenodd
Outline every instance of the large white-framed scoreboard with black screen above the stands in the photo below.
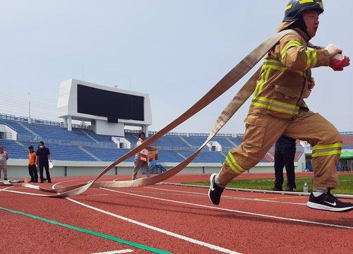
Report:
M 72 120 L 90 121 L 104 135 L 124 136 L 125 126 L 147 130 L 152 124 L 148 94 L 73 78 L 60 84 L 57 112 L 68 129 Z

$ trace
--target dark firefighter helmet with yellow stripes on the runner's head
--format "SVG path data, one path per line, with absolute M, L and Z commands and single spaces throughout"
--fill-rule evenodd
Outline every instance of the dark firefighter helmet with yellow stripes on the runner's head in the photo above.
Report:
M 318 11 L 323 13 L 323 1 L 321 0 L 291 0 L 285 8 L 283 21 L 298 20 L 303 11 Z

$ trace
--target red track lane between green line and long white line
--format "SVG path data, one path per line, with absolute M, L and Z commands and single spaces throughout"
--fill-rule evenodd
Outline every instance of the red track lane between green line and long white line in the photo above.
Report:
M 102 191 L 97 189 L 89 190 L 89 192 L 90 194 L 98 194 L 97 192 L 102 194 Z M 48 214 L 50 214 L 49 219 L 64 222 L 66 224 L 85 227 L 86 229 L 94 231 L 100 231 L 104 234 L 110 234 L 119 238 L 124 238 L 127 241 L 135 241 L 147 246 L 151 246 L 153 248 L 172 251 L 172 253 L 185 253 L 184 251 L 187 251 L 188 253 L 215 253 L 214 250 L 210 251 L 209 248 L 196 246 L 193 243 L 182 241 L 172 236 L 166 236 L 165 234 L 160 234 L 156 231 L 144 229 L 141 226 L 134 225 L 129 222 L 124 222 L 120 219 L 114 219 L 106 214 L 101 214 L 94 211 L 92 212 L 92 210 L 88 210 L 84 207 L 75 205 L 71 202 L 68 202 L 68 200 L 42 198 L 19 193 L 6 193 L 6 195 L 8 196 L 7 198 L 1 197 L 0 205 L 4 205 L 5 203 L 8 203 L 9 200 L 11 200 L 11 205 L 8 205 L 7 207 L 13 210 L 20 210 L 21 212 L 28 212 L 42 217 L 48 217 Z M 100 199 L 104 198 L 104 196 L 81 195 L 81 198 Z M 36 205 L 28 206 L 28 201 Z M 116 203 L 115 206 L 119 208 L 119 211 L 124 210 L 125 208 L 124 205 L 119 205 L 119 203 Z M 134 210 L 134 212 L 136 212 L 136 210 Z M 128 217 L 128 215 L 126 217 Z M 21 233 L 17 231 L 12 232 L 10 235 L 12 238 L 16 238 L 17 234 Z M 53 233 L 51 236 L 53 238 L 50 237 L 50 239 L 53 243 L 60 244 L 61 241 L 64 241 L 61 236 L 56 238 L 55 233 Z M 30 240 L 28 239 L 28 241 Z M 81 240 L 78 239 L 77 241 L 82 241 L 82 244 L 84 244 L 87 240 L 82 238 Z M 102 244 L 97 244 L 97 246 L 102 247 Z M 17 248 L 22 247 L 17 246 Z M 116 247 L 110 249 L 116 249 Z M 70 250 L 70 248 L 66 248 L 66 250 Z M 100 251 L 97 250 L 95 252 Z M 74 250 L 73 252 L 70 251 L 70 253 L 84 252 L 76 252 L 76 250 Z

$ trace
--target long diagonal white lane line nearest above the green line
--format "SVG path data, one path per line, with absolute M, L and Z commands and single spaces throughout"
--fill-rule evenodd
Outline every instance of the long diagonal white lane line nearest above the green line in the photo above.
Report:
M 110 191 L 109 189 L 107 189 L 107 190 Z M 107 211 L 105 211 L 105 210 L 102 210 L 102 209 L 97 208 L 97 207 L 93 207 L 93 206 L 91 206 L 91 205 L 86 205 L 86 204 L 83 203 L 83 202 L 78 202 L 78 201 L 73 200 L 73 199 L 71 199 L 71 198 L 66 198 L 66 199 L 67 199 L 67 200 L 70 200 L 71 202 L 75 202 L 75 203 L 78 204 L 78 205 L 83 205 L 84 207 L 88 207 L 88 208 L 90 208 L 90 209 L 92 209 L 92 210 L 95 210 L 95 211 L 97 211 L 97 212 L 102 212 L 102 213 L 108 214 L 108 215 L 110 215 L 110 216 L 112 216 L 112 217 L 116 217 L 116 218 L 118 218 L 118 219 L 122 219 L 122 220 L 124 220 L 124 221 L 126 221 L 126 222 L 130 222 L 130 223 L 133 223 L 133 224 L 136 224 L 136 225 L 139 225 L 139 226 L 143 226 L 143 227 L 145 227 L 146 229 L 151 229 L 151 230 L 160 232 L 160 233 L 162 233 L 162 234 L 166 234 L 167 236 L 173 236 L 173 237 L 175 237 L 175 238 L 179 238 L 179 239 L 181 239 L 181 240 L 188 241 L 188 242 L 190 242 L 190 243 L 194 243 L 194 244 L 197 244 L 197 245 L 199 245 L 199 246 L 204 246 L 204 247 L 207 247 L 207 248 L 210 248 L 210 249 L 213 249 L 213 250 L 217 250 L 217 251 L 220 251 L 220 252 L 222 252 L 222 253 L 239 254 L 239 253 L 237 253 L 237 252 L 234 251 L 234 250 L 229 250 L 229 249 L 227 249 L 227 248 L 222 248 L 222 247 L 220 247 L 220 246 L 215 246 L 215 245 L 210 244 L 210 243 L 205 243 L 205 242 L 203 242 L 203 241 L 198 241 L 198 240 L 196 240 L 196 239 L 189 238 L 189 237 L 187 237 L 187 236 L 182 236 L 182 235 L 180 235 L 180 234 L 176 234 L 176 233 L 171 232 L 171 231 L 167 231 L 167 230 L 164 230 L 164 229 L 157 228 L 156 226 L 151 226 L 151 225 L 145 224 L 145 223 L 143 223 L 143 222 L 138 222 L 138 221 L 136 221 L 136 220 L 134 220 L 134 219 L 129 219 L 129 218 L 123 217 L 123 216 L 121 216 L 121 215 L 119 215 L 119 214 L 114 214 L 114 213 L 112 213 L 112 212 L 107 212 Z

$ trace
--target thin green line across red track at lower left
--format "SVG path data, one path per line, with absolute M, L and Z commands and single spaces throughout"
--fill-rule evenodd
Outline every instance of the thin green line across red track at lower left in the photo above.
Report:
M 30 217 L 32 219 L 37 219 L 37 220 L 40 220 L 42 222 L 47 222 L 47 223 L 50 223 L 50 224 L 54 224 L 54 225 L 58 225 L 58 226 L 63 226 L 67 229 L 73 229 L 75 231 L 79 231 L 79 232 L 83 232 L 85 234 L 90 234 L 90 235 L 93 235 L 93 236 L 98 236 L 98 237 L 102 237 L 102 238 L 106 238 L 108 240 L 111 240 L 111 241 L 115 241 L 117 243 L 122 243 L 122 244 L 126 244 L 128 246 L 132 246 L 132 247 L 135 247 L 135 248 L 139 248 L 141 250 L 148 250 L 152 253 L 159 253 L 159 254 L 170 254 L 169 252 L 165 251 L 165 250 L 159 250 L 159 249 L 156 249 L 156 248 L 152 248 L 152 247 L 148 247 L 148 246 L 144 246 L 140 243 L 133 243 L 131 241 L 126 241 L 126 240 L 123 240 L 121 238 L 116 238 L 114 236 L 109 236 L 107 234 L 102 234 L 102 233 L 99 233 L 99 232 L 96 232 L 96 231 L 92 231 L 92 230 L 89 230 L 89 229 L 83 229 L 83 228 L 80 228 L 78 226 L 72 226 L 72 225 L 68 225 L 68 224 L 64 224 L 64 223 L 61 223 L 61 222 L 55 222 L 53 221 L 52 219 L 45 219 L 45 218 L 42 218 L 42 217 L 38 217 L 38 216 L 35 216 L 35 215 L 32 215 L 32 214 L 27 214 L 25 212 L 19 212 L 19 211 L 16 211 L 16 210 L 11 210 L 11 209 L 8 209 L 6 207 L 1 207 L 0 206 L 0 210 L 5 210 L 7 212 L 12 212 L 14 214 L 20 214 L 20 215 L 23 215 L 25 217 Z

